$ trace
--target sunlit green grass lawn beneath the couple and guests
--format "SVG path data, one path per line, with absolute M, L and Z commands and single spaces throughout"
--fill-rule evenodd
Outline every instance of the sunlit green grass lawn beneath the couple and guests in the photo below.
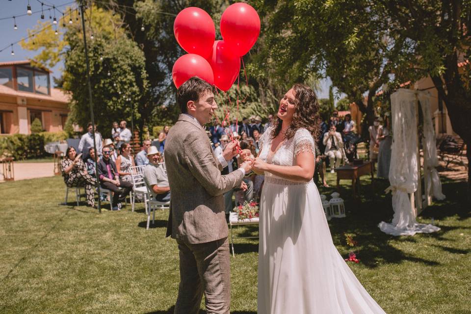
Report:
M 386 182 L 365 179 L 361 201 L 348 197 L 343 183 L 347 217 L 329 222 L 334 242 L 347 256 L 343 233 L 356 235 L 361 262 L 349 265 L 386 313 L 471 313 L 466 184 L 444 181 L 447 200 L 419 218 L 434 217 L 441 232 L 392 237 L 376 227 L 392 218 Z M 0 185 L 0 313 L 168 313 L 179 283 L 177 245 L 164 237 L 168 212 L 158 211 L 146 230 L 142 204 L 136 212 L 128 206 L 98 214 L 72 202 L 58 205 L 64 191 L 60 177 Z M 238 239 L 235 249 L 231 313 L 255 314 L 258 241 Z

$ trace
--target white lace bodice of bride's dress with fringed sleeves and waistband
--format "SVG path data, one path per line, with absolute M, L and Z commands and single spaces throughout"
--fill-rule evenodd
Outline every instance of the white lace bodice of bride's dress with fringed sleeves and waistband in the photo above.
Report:
M 271 151 L 272 138 L 271 131 L 273 127 L 269 127 L 263 132 L 262 137 L 259 139 L 259 148 L 260 155 L 259 157 L 267 162 L 274 165 L 280 166 L 294 166 L 296 164 L 296 156 L 302 152 L 311 152 L 314 153 L 314 139 L 311 133 L 306 129 L 299 129 L 296 131 L 293 137 L 288 140 L 283 141 L 280 148 L 276 152 Z M 283 183 L 291 184 L 293 182 L 276 177 L 268 172 L 265 172 L 265 180 L 267 178 L 273 178 L 277 180 L 268 180 Z M 301 184 L 301 183 L 299 183 Z

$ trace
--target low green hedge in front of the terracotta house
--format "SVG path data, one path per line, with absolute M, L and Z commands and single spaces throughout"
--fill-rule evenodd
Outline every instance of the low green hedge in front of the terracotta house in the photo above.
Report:
M 44 144 L 65 140 L 67 133 L 40 132 L 36 134 L 13 134 L 0 137 L 0 157 L 12 156 L 15 160 L 47 157 Z

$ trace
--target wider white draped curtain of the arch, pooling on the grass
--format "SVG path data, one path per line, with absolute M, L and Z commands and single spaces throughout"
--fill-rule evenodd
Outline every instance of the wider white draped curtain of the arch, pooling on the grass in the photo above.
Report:
M 430 233 L 440 228 L 418 224 L 409 193 L 418 185 L 416 91 L 399 89 L 391 95 L 392 156 L 389 181 L 392 190 L 392 223 L 380 222 L 378 227 L 389 235 Z

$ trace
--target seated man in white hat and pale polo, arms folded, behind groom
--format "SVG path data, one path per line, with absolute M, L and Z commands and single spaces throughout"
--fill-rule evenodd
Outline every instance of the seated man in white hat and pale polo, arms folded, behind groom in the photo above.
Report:
M 168 178 L 161 162 L 160 152 L 157 147 L 151 146 L 147 152 L 149 163 L 144 168 L 144 181 L 151 191 L 152 197 L 158 202 L 170 201 L 170 187 Z

